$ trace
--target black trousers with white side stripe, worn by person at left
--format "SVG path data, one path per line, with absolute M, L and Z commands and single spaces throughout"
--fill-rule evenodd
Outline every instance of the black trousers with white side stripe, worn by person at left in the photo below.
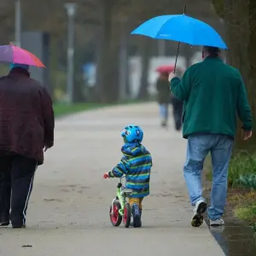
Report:
M 21 155 L 0 156 L 0 223 L 10 220 L 15 226 L 26 224 L 37 166 L 36 160 Z

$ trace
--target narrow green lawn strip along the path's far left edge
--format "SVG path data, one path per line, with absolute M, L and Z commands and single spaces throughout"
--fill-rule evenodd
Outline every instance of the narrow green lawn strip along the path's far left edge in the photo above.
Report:
M 75 104 L 66 104 L 66 103 L 55 103 L 54 110 L 55 110 L 55 117 L 60 117 L 62 115 L 68 113 L 77 113 L 84 110 L 89 110 L 93 108 L 102 108 L 107 106 L 106 104 L 100 103 L 75 103 Z

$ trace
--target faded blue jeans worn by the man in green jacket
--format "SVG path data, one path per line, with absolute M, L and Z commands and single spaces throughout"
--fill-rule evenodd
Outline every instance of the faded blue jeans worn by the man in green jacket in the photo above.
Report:
M 201 172 L 207 154 L 211 152 L 212 155 L 212 194 L 211 206 L 208 208 L 208 217 L 212 220 L 220 218 L 224 213 L 233 143 L 232 138 L 219 134 L 197 134 L 188 139 L 187 160 L 183 171 L 192 206 L 195 206 L 196 201 L 204 200 Z

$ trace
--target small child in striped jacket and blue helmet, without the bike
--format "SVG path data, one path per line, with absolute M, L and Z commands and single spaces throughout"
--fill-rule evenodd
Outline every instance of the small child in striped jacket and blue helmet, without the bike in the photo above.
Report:
M 150 171 L 152 157 L 142 144 L 143 130 L 137 125 L 127 125 L 121 132 L 125 144 L 121 148 L 123 157 L 111 172 L 104 174 L 108 177 L 122 177 L 125 175 L 126 188 L 132 189 L 129 198 L 132 209 L 133 227 L 142 226 L 143 198 L 149 195 Z

